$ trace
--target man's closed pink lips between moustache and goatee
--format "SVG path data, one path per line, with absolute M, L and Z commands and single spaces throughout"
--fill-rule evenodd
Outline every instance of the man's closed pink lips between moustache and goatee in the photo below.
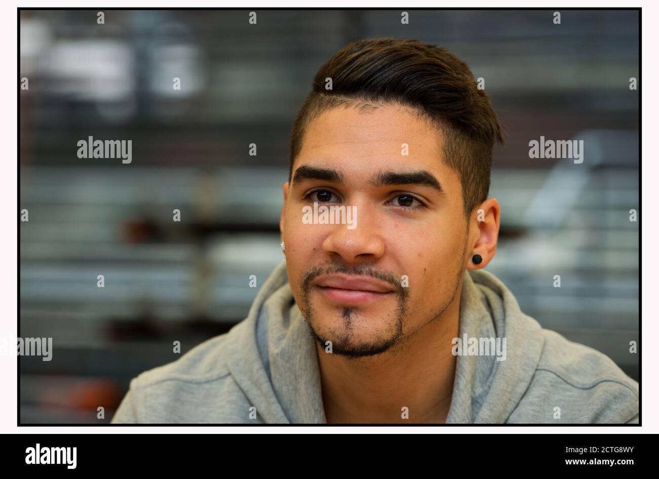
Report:
M 330 301 L 345 305 L 378 301 L 393 293 L 393 288 L 386 282 L 345 274 L 320 276 L 315 286 Z

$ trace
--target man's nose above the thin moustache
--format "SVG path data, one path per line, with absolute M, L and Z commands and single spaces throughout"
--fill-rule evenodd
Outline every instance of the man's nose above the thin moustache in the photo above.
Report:
M 345 263 L 359 263 L 364 260 L 373 261 L 384 255 L 384 238 L 381 226 L 374 212 L 366 212 L 357 208 L 359 221 L 355 229 L 347 228 L 345 224 L 335 224 L 331 233 L 324 239 L 322 248 L 328 255 L 339 255 Z

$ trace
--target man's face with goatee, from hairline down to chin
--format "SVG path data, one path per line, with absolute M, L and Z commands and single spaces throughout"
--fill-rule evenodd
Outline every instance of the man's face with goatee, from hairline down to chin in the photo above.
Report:
M 467 221 L 440 141 L 403 107 L 339 107 L 306 131 L 284 185 L 280 228 L 295 301 L 334 354 L 362 357 L 399 345 L 455 296 L 467 264 Z M 346 214 L 351 224 L 327 224 L 319 209 L 314 224 L 314 202 L 346 207 L 356 221 Z

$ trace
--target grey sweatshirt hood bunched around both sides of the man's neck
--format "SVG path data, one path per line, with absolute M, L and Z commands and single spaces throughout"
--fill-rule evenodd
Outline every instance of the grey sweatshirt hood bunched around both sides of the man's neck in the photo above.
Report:
M 544 337 L 493 274 L 465 270 L 460 338 L 506 338 L 505 361 L 458 355 L 447 423 L 501 423 L 536 372 Z M 233 336 L 233 337 L 232 337 Z M 227 366 L 268 423 L 325 423 L 316 344 L 293 299 L 282 262 L 264 283 L 248 318 L 229 332 Z M 245 358 L 259 359 L 254 367 Z

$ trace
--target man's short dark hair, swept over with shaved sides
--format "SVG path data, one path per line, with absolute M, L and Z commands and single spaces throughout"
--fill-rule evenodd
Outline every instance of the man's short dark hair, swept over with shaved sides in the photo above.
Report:
M 488 197 L 494 140 L 503 145 L 501 126 L 469 66 L 445 48 L 417 39 L 355 41 L 318 69 L 293 122 L 289 181 L 311 120 L 340 105 L 369 111 L 395 104 L 411 107 L 444 134 L 442 153 L 460 178 L 469 218 Z

